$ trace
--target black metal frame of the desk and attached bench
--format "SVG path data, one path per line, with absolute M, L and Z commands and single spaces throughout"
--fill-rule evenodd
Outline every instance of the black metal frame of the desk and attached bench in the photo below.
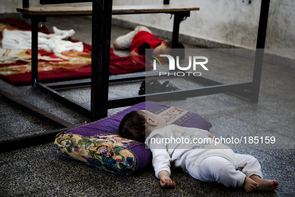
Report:
M 264 47 L 267 31 L 267 22 L 269 14 L 270 0 L 262 0 L 260 19 L 257 35 L 257 46 L 254 64 L 253 81 L 235 83 L 235 84 L 223 84 L 221 82 L 206 78 L 206 77 L 194 77 L 196 82 L 201 82 L 207 87 L 178 90 L 173 92 L 163 92 L 146 94 L 132 97 L 116 98 L 108 100 L 108 86 L 110 83 L 126 82 L 126 81 L 138 81 L 144 80 L 145 75 L 117 77 L 109 79 L 109 56 L 110 56 L 110 33 L 111 33 L 111 16 L 112 16 L 112 0 L 40 0 L 41 4 L 55 4 L 55 3 L 69 3 L 69 2 L 91 2 L 92 1 L 92 66 L 91 66 L 91 82 L 85 80 L 83 82 L 70 83 L 50 83 L 48 85 L 38 82 L 37 73 L 37 30 L 38 23 L 46 21 L 46 16 L 29 16 L 23 14 L 24 17 L 30 17 L 32 22 L 32 74 L 31 85 L 33 88 L 38 89 L 57 101 L 66 104 L 67 106 L 83 113 L 85 116 L 90 117 L 91 121 L 103 118 L 107 116 L 107 109 L 121 106 L 129 106 L 142 102 L 145 100 L 163 101 L 171 99 L 184 99 L 184 92 L 186 97 L 194 97 L 208 94 L 225 93 L 230 92 L 236 95 L 242 96 L 252 102 L 258 102 L 261 72 L 264 56 Z M 164 4 L 169 4 L 169 0 L 164 0 Z M 23 0 L 23 7 L 28 7 L 28 0 Z M 173 34 L 172 34 L 172 46 L 176 46 L 179 36 L 179 24 L 182 20 L 190 15 L 190 11 L 172 12 L 174 14 Z M 100 22 L 103 21 L 103 22 Z M 147 75 L 148 76 L 148 75 Z M 148 77 L 155 77 L 150 75 Z M 91 83 L 91 108 L 87 108 L 78 102 L 67 98 L 61 93 L 55 91 L 53 88 L 72 88 L 75 86 L 84 86 Z M 0 92 L 3 95 L 3 92 Z M 13 101 L 13 96 L 7 96 L 8 100 Z M 14 99 L 14 102 L 17 100 Z M 28 107 L 29 110 L 34 111 L 33 106 Z M 38 113 L 38 112 L 37 112 Z M 47 117 L 46 117 L 47 118 Z M 50 119 L 50 118 L 49 118 Z M 52 119 L 54 122 L 54 118 Z M 58 121 L 57 121 L 58 123 Z M 68 128 L 68 127 L 67 127 Z M 65 130 L 66 128 L 64 128 Z M 51 133 L 51 131 L 49 131 Z M 36 134 L 40 135 L 40 134 Z M 46 134 L 44 134 L 46 136 Z M 25 138 L 36 137 L 27 136 Z M 44 137 L 41 137 L 41 141 L 46 141 Z M 46 137 L 45 137 L 46 138 Z M 18 139 L 16 139 L 18 140 Z M 22 139 L 19 139 L 20 141 Z M 15 140 L 13 141 L 15 144 Z M 6 144 L 0 142 L 0 146 Z M 21 147 L 19 147 L 21 148 Z M 11 150 L 11 149 L 10 149 Z

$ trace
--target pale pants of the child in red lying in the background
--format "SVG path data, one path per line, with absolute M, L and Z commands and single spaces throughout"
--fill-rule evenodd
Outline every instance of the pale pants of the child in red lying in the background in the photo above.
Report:
M 117 37 L 116 42 L 117 42 L 118 46 L 121 49 L 128 49 L 131 45 L 133 37 L 136 35 L 136 33 L 138 33 L 138 31 L 147 31 L 149 33 L 152 33 L 152 31 L 145 26 L 137 26 L 137 27 L 135 27 L 135 29 L 133 31 L 130 31 L 129 33 L 127 33 L 125 35 L 121 35 L 121 36 Z

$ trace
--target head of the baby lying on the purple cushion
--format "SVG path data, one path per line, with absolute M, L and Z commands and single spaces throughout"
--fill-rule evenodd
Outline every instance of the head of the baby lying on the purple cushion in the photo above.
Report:
M 144 142 L 147 135 L 158 128 L 167 125 L 166 120 L 161 116 L 148 110 L 137 110 L 127 113 L 120 125 L 119 134 L 122 137 Z

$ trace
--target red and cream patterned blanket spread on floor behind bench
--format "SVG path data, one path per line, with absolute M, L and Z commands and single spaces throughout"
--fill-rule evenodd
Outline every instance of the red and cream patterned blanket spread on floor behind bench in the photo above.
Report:
M 15 18 L 0 20 L 0 40 L 2 31 L 31 30 L 30 24 Z M 45 26 L 39 31 L 51 33 Z M 75 42 L 78 40 L 70 39 Z M 38 81 L 53 82 L 70 79 L 89 78 L 91 76 L 91 45 L 83 43 L 83 52 L 56 53 L 38 50 Z M 31 78 L 31 50 L 3 49 L 0 47 L 0 77 L 14 85 L 30 84 Z M 145 70 L 145 56 L 118 56 L 110 50 L 110 74 L 123 74 Z M 147 65 L 147 68 L 151 68 Z

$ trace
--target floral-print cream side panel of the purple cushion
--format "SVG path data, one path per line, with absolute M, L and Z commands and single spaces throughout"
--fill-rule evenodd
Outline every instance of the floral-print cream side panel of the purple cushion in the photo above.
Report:
M 110 136 L 85 137 L 72 133 L 60 133 L 54 147 L 64 156 L 122 174 L 136 169 L 136 156 L 125 146 L 133 140 L 114 142 Z

